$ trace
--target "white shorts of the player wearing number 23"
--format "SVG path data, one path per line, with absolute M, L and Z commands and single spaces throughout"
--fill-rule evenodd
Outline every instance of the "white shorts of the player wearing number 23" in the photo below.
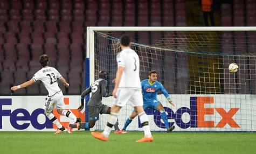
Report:
M 64 96 L 61 91 L 54 94 L 51 97 L 47 97 L 47 99 L 45 101 L 45 110 L 46 111 L 52 111 L 54 108 L 56 108 L 56 109 L 64 109 L 65 108 Z

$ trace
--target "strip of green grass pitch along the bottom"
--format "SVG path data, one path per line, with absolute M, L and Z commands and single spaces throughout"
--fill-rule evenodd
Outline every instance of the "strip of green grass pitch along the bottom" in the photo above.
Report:
M 136 143 L 143 132 L 110 134 L 108 142 L 91 132 L 1 132 L 0 153 L 256 153 L 252 132 L 153 132 L 154 142 Z

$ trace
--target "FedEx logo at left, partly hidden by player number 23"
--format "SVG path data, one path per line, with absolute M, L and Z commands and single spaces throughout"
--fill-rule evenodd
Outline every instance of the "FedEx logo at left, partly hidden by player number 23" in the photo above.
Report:
M 65 104 L 68 104 L 68 98 L 64 98 Z M 43 102 L 42 102 L 43 103 Z M 8 109 L 3 109 L 3 106 L 11 106 L 12 105 L 12 99 L 0 99 L 0 129 L 3 129 L 3 117 L 9 116 L 10 117 L 10 124 L 13 128 L 18 130 L 26 129 L 30 126 L 30 124 L 33 126 L 33 128 L 41 130 L 41 129 L 52 129 L 57 128 L 55 124 L 53 124 L 49 118 L 47 118 L 44 115 L 44 109 L 38 108 L 32 111 L 30 114 L 29 111 L 27 111 L 24 108 L 18 108 L 13 111 Z M 82 121 L 85 121 L 85 113 L 81 114 L 77 109 L 71 109 L 72 113 L 75 116 L 81 117 Z M 19 115 L 18 115 L 19 114 Z M 20 115 L 23 114 L 23 115 Z M 40 114 L 43 114 L 45 116 L 44 123 L 38 122 L 38 116 Z M 60 120 L 60 116 L 57 113 L 57 110 L 53 110 L 53 114 L 56 115 L 58 120 Z M 22 124 L 18 121 L 27 121 Z M 60 122 L 64 127 L 69 124 L 69 122 Z

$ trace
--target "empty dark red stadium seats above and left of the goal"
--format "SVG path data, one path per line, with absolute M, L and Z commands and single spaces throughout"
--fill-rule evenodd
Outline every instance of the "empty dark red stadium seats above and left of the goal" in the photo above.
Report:
M 48 54 L 50 66 L 71 83 L 68 89 L 61 85 L 63 93 L 80 94 L 85 88 L 87 26 L 205 26 L 200 5 L 196 0 L 1 0 L 0 95 L 10 95 L 12 85 L 31 79 L 40 68 L 41 54 Z M 254 0 L 213 1 L 212 9 L 215 26 L 256 25 Z M 163 37 L 151 32 L 130 35 L 142 44 Z M 16 94 L 47 92 L 37 82 Z

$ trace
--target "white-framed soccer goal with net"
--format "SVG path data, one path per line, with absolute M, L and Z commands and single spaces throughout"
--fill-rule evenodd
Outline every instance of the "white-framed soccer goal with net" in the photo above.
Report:
M 256 131 L 256 27 L 87 27 L 87 86 L 104 70 L 108 92 L 113 90 L 124 33 L 139 55 L 141 81 L 155 69 L 176 104 L 158 94 L 175 131 Z M 236 73 L 229 71 L 233 62 Z M 120 129 L 132 111 L 129 104 L 121 109 Z M 146 113 L 151 130 L 165 130 L 160 112 Z M 94 128 L 103 130 L 107 118 L 101 115 Z M 127 130 L 142 130 L 137 117 Z

